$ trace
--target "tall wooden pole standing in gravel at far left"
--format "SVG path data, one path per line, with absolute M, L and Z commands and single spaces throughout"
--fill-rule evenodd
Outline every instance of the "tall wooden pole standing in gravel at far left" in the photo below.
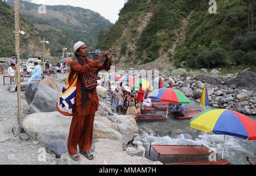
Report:
M 16 64 L 16 83 L 17 83 L 17 99 L 18 99 L 18 125 L 22 129 L 22 112 L 20 103 L 20 57 L 19 57 L 19 1 L 14 1 L 14 21 L 15 21 L 15 53 L 17 55 Z

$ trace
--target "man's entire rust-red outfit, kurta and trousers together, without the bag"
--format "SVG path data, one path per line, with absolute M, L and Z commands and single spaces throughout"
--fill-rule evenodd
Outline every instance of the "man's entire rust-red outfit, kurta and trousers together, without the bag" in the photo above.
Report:
M 85 74 L 94 69 L 108 71 L 111 62 L 106 60 L 103 65 L 97 61 L 83 60 L 84 65 L 80 65 L 77 60 L 73 60 L 71 65 L 71 78 L 73 74 Z M 95 112 L 98 110 L 98 94 L 95 89 L 93 93 L 88 93 L 88 98 L 82 106 L 81 79 L 77 79 L 75 105 L 73 106 L 73 118 L 68 136 L 69 154 L 77 153 L 77 144 L 81 151 L 85 152 L 92 147 L 93 121 Z

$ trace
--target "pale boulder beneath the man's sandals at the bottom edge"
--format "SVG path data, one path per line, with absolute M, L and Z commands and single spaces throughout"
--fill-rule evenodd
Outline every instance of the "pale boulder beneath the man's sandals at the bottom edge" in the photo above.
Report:
M 88 160 L 81 156 L 79 162 L 73 161 L 68 153 L 61 155 L 61 165 L 152 165 L 162 164 L 161 162 L 153 162 L 145 157 L 130 156 L 123 152 L 122 144 L 118 141 L 109 139 L 97 139 L 93 143 L 94 160 Z

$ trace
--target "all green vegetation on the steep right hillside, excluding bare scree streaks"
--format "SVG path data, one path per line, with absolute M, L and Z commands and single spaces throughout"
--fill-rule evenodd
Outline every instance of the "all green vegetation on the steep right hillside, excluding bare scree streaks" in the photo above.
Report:
M 255 62 L 256 2 L 249 0 L 217 1 L 217 14 L 209 14 L 208 0 L 203 1 L 128 1 L 119 20 L 102 33 L 99 47 L 118 48 L 119 55 L 130 53 L 125 44 L 136 34 L 139 14 L 153 15 L 136 43 L 134 63 L 154 61 L 167 52 L 177 40 L 176 31 L 183 30 L 182 20 L 191 14 L 186 40 L 175 53 L 167 53 L 170 62 L 184 68 L 214 68 L 246 65 Z M 141 13 L 139 13 L 139 9 Z M 127 31 L 127 26 L 129 30 Z M 131 30 L 130 30 L 131 29 Z M 105 36 L 104 36 L 105 35 Z M 130 53 L 131 55 L 131 53 Z M 121 57 L 119 56 L 119 57 Z

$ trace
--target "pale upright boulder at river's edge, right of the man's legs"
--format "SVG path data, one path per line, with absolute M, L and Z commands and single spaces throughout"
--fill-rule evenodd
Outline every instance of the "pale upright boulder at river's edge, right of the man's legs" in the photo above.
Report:
M 124 123 L 118 124 L 118 131 L 123 136 L 123 145 L 126 145 L 129 141 L 133 140 L 134 131 L 129 125 Z

